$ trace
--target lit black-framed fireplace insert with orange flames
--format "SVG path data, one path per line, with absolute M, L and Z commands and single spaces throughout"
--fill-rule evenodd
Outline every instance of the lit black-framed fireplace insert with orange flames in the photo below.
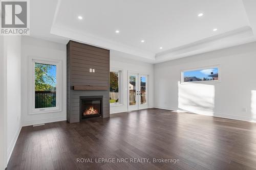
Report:
M 80 121 L 90 117 L 101 117 L 103 96 L 80 96 Z

